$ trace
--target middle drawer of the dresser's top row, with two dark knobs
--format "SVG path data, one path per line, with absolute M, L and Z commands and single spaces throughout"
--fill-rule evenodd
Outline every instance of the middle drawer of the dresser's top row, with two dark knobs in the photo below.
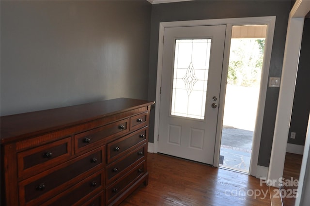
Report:
M 96 147 L 104 138 L 122 135 L 129 131 L 129 119 L 124 119 L 103 127 L 98 127 L 74 136 L 75 152 L 78 153 L 90 147 Z

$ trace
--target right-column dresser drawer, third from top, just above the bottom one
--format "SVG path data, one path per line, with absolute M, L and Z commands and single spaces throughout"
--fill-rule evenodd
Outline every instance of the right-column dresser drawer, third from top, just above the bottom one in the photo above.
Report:
M 107 185 L 109 185 L 113 180 L 116 180 L 119 176 L 126 173 L 126 170 L 130 165 L 134 164 L 140 159 L 143 159 L 145 156 L 146 147 L 145 144 L 139 148 L 133 150 L 123 158 L 111 163 L 107 166 Z

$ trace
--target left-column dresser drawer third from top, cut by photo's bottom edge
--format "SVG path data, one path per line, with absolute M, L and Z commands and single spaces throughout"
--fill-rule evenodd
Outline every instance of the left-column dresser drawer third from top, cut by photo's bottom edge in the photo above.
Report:
M 79 182 L 75 187 L 65 190 L 60 195 L 54 197 L 43 206 L 74 206 L 85 203 L 87 199 L 93 197 L 98 191 L 104 188 L 104 172 L 103 170 L 95 173 L 83 181 Z M 98 199 L 98 198 L 97 198 Z M 94 200 L 100 204 L 99 201 Z M 100 206 L 100 205 L 98 205 Z

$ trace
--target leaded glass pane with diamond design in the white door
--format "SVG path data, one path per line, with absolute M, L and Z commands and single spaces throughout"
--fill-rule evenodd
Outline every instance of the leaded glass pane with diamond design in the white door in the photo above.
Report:
M 204 119 L 211 39 L 176 39 L 171 115 Z

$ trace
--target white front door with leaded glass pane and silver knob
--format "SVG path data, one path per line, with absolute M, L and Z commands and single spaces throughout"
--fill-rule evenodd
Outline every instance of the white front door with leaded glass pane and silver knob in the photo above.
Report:
M 159 153 L 213 164 L 225 31 L 165 28 Z

